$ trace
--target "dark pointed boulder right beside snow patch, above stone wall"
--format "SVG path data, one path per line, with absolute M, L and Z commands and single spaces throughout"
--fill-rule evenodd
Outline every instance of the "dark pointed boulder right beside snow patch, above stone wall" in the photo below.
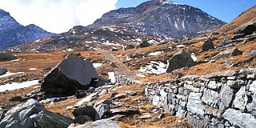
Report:
M 193 66 L 194 64 L 195 62 L 193 58 L 191 58 L 189 52 L 186 50 L 181 50 L 177 54 L 174 54 L 172 58 L 170 58 L 169 66 L 166 72 L 170 73 L 173 70 L 178 70 L 185 66 Z

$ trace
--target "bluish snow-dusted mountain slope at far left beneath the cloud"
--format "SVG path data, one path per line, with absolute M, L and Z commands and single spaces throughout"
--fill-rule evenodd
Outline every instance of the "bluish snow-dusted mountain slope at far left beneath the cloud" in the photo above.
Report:
M 0 50 L 54 35 L 56 34 L 42 30 L 33 24 L 22 26 L 8 12 L 0 10 Z

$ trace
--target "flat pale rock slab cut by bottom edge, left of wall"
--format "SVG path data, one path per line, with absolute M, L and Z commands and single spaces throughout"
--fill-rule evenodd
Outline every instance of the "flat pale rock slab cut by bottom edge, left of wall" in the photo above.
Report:
M 120 128 L 118 122 L 112 121 L 111 119 L 101 119 L 95 122 L 89 122 L 81 126 L 74 126 L 71 124 L 68 128 L 102 128 L 102 127 L 111 127 L 111 128 Z

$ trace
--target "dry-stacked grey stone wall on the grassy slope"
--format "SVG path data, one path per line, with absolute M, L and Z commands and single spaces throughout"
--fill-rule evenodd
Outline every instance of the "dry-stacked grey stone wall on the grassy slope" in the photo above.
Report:
M 198 127 L 256 126 L 256 68 L 148 83 L 154 106 Z

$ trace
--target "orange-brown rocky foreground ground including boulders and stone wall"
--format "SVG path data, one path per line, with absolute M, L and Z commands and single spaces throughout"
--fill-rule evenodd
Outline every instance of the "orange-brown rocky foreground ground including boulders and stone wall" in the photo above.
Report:
M 254 127 L 255 9 L 179 42 L 2 53 L 0 127 Z

